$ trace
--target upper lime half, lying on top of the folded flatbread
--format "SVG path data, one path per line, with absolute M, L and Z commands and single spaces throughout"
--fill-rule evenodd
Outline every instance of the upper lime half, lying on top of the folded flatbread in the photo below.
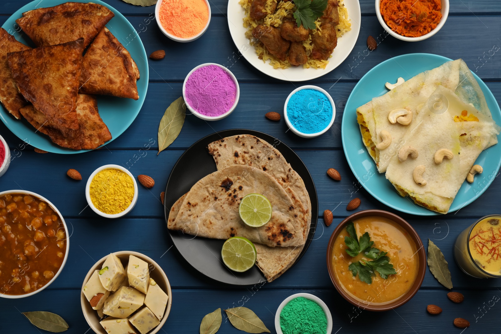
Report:
M 260 227 L 272 218 L 272 204 L 261 194 L 248 194 L 242 198 L 238 213 L 245 224 Z

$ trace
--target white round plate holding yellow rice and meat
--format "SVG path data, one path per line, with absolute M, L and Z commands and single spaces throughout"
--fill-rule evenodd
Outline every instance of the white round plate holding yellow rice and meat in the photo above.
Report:
M 280 1 L 280 0 L 279 0 Z M 258 58 L 256 49 L 249 44 L 245 38 L 246 28 L 243 27 L 245 10 L 238 4 L 238 0 L 228 1 L 228 27 L 231 38 L 235 43 L 239 53 L 259 71 L 270 77 L 286 81 L 306 81 L 319 78 L 338 67 L 350 54 L 357 42 L 360 32 L 360 4 L 358 0 L 345 0 L 345 7 L 348 9 L 348 16 L 351 21 L 351 30 L 343 37 L 339 38 L 338 45 L 334 49 L 332 58 L 325 69 L 304 69 L 302 66 L 290 67 L 288 69 L 274 69 L 270 61 L 264 63 Z

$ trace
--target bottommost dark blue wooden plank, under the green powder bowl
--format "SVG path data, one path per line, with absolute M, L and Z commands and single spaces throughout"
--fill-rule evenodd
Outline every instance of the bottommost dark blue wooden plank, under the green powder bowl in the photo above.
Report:
M 386 312 L 369 312 L 360 310 L 344 300 L 333 289 L 214 289 L 172 291 L 172 309 L 162 327 L 166 333 L 197 333 L 202 317 L 214 309 L 230 308 L 244 305 L 254 310 L 265 325 L 275 331 L 275 313 L 280 303 L 288 296 L 306 292 L 312 293 L 325 301 L 333 317 L 332 333 L 348 334 L 369 332 L 377 326 L 379 332 L 414 334 L 423 332 L 460 332 L 452 321 L 456 317 L 464 317 L 470 321 L 468 333 L 498 333 L 499 296 L 496 290 L 460 290 L 465 301 L 453 304 L 447 299 L 445 291 L 419 290 L 417 294 L 403 306 Z M 202 297 L 203 296 L 203 297 Z M 51 302 L 48 302 L 48 301 Z M 443 308 L 440 315 L 430 315 L 426 305 L 434 303 Z M 491 305 L 491 306 L 489 306 Z M 69 324 L 66 333 L 82 334 L 89 328 L 80 306 L 80 290 L 45 290 L 29 299 L 0 299 L 2 307 L 2 329 L 6 333 L 38 333 L 21 312 L 45 310 L 58 313 Z M 480 309 L 480 310 L 479 310 Z M 226 319 L 224 311 L 218 334 L 237 334 L 241 331 L 234 328 Z M 7 320 L 8 319 L 8 320 Z M 475 322 L 476 319 L 476 322 Z M 355 329 L 356 328 L 356 329 Z

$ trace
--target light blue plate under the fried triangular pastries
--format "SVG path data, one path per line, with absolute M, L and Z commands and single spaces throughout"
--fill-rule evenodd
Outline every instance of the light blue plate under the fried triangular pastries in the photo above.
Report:
M 72 0 L 73 2 L 86 3 L 84 0 Z M 34 10 L 41 7 L 53 7 L 64 3 L 64 0 L 35 0 L 26 6 L 20 8 L 14 13 L 2 26 L 18 41 L 33 47 L 33 43 L 24 34 L 21 33 L 20 27 L 16 24 L 16 20 L 21 18 L 22 14 L 26 11 Z M 106 27 L 110 32 L 115 35 L 120 43 L 129 51 L 132 59 L 139 68 L 141 78 L 137 81 L 137 91 L 139 99 L 134 101 L 132 99 L 117 98 L 112 96 L 98 95 L 98 109 L 99 115 L 104 123 L 108 126 L 113 139 L 120 136 L 132 124 L 139 110 L 143 106 L 146 91 L 148 89 L 148 58 L 144 50 L 143 43 L 136 33 L 136 30 L 127 19 L 120 14 L 116 9 L 105 4 L 100 0 L 92 0 L 93 3 L 106 6 L 110 11 L 115 13 L 115 17 L 110 20 Z M 53 153 L 73 154 L 82 153 L 89 150 L 71 150 L 60 147 L 54 144 L 50 138 L 40 132 L 35 133 L 35 128 L 31 126 L 26 120 L 16 120 L 5 108 L 0 107 L 0 119 L 2 122 L 21 140 L 26 141 L 30 145 Z M 113 139 L 106 142 L 104 145 L 111 142 Z

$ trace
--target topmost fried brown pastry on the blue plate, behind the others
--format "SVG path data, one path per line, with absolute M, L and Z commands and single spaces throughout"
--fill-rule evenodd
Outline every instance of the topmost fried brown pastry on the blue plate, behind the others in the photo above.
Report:
M 83 38 L 84 48 L 115 14 L 94 3 L 64 3 L 23 13 L 16 23 L 38 47 Z

